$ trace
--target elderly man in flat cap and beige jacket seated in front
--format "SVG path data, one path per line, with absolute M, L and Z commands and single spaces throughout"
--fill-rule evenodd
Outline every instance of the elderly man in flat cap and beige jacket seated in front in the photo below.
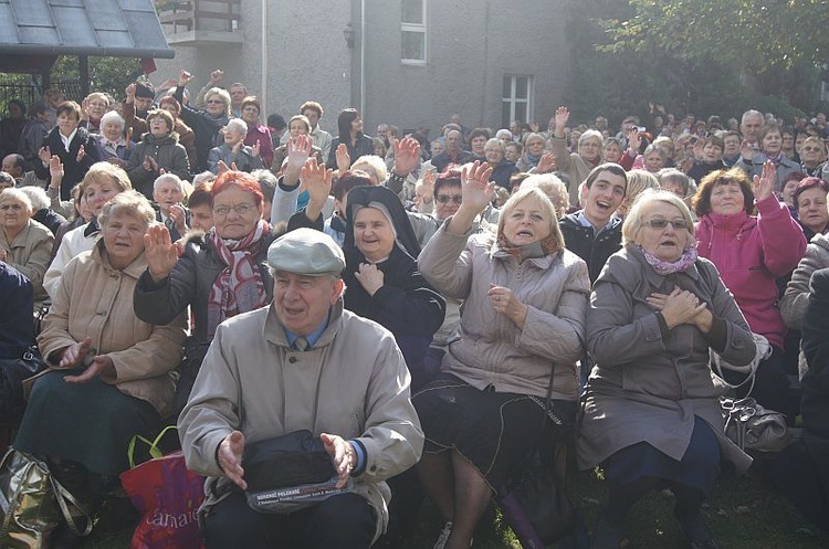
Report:
M 209 477 L 206 546 L 368 548 L 388 520 L 385 481 L 423 445 L 406 362 L 390 331 L 343 309 L 345 258 L 330 236 L 292 231 L 267 262 L 273 303 L 219 326 L 178 421 L 188 467 Z M 291 514 L 253 510 L 245 445 L 301 429 L 350 489 Z

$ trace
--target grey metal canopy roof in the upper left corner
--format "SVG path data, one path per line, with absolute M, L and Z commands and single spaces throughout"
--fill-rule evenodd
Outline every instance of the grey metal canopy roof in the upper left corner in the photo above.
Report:
M 175 51 L 153 0 L 0 0 L 0 71 L 56 55 L 172 59 Z

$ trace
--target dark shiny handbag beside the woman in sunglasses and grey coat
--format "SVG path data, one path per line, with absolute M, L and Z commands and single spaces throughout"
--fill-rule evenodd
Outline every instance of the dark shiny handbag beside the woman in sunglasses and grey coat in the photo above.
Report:
M 791 441 L 786 415 L 763 408 L 751 397 L 721 398 L 720 405 L 725 419 L 725 435 L 739 450 L 779 452 Z

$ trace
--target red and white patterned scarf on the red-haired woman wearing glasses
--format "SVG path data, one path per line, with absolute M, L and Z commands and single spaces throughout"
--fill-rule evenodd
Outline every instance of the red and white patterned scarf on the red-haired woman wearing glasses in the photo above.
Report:
M 263 307 L 267 303 L 265 286 L 256 265 L 262 239 L 271 225 L 260 220 L 244 239 L 225 240 L 210 230 L 210 243 L 219 257 L 228 264 L 213 282 L 208 298 L 208 337 L 212 338 L 219 325 L 240 313 Z

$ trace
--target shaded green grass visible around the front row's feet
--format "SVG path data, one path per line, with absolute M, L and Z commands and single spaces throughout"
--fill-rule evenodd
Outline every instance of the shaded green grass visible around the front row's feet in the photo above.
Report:
M 574 473 L 570 495 L 584 514 L 588 527 L 607 498 L 604 482 L 596 472 Z M 628 517 L 630 549 L 676 549 L 683 547 L 682 534 L 673 520 L 673 497 L 657 492 L 639 502 Z M 717 536 L 722 549 L 825 549 L 829 536 L 806 522 L 794 506 L 765 486 L 757 474 L 742 478 L 724 474 L 703 513 Z M 431 549 L 441 529 L 434 508 L 427 504 L 420 514 L 420 531 L 400 549 Z M 93 531 L 84 549 L 125 549 L 132 532 L 105 535 Z M 512 531 L 490 509 L 475 534 L 474 549 L 520 548 Z M 189 549 L 189 548 L 180 548 Z

